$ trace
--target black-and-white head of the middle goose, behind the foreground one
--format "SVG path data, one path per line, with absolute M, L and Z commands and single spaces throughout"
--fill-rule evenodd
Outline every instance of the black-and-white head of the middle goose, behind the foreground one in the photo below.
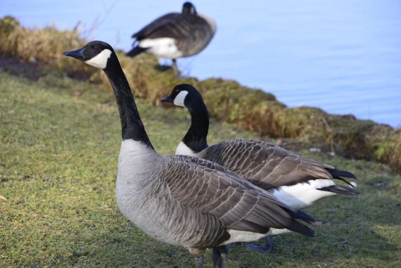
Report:
M 194 104 L 203 103 L 202 95 L 189 84 L 179 84 L 173 88 L 170 95 L 161 102 L 170 102 L 177 106 L 191 107 Z

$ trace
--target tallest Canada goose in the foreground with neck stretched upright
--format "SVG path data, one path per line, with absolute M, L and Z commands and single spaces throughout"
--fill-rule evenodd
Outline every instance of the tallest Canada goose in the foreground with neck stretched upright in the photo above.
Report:
M 229 169 L 190 156 L 154 150 L 113 48 L 101 41 L 64 55 L 101 68 L 117 101 L 122 126 L 115 195 L 124 216 L 159 241 L 189 248 L 196 267 L 206 248 L 226 267 L 223 245 L 269 234 L 314 232 L 296 221 L 314 221 Z M 249 241 L 251 241 L 249 240 Z M 219 264 L 223 262 L 223 264 Z

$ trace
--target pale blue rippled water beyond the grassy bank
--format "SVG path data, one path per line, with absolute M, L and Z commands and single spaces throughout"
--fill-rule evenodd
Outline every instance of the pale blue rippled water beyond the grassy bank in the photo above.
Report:
M 61 29 L 78 21 L 89 29 L 98 17 L 90 39 L 128 50 L 132 33 L 183 2 L 1 0 L 0 16 Z M 199 13 L 215 18 L 217 33 L 203 52 L 178 60 L 184 73 L 235 79 L 290 107 L 401 125 L 401 1 L 197 2 Z

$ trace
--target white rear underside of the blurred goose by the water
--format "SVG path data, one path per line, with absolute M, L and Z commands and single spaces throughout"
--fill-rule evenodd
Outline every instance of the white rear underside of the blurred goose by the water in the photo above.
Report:
M 149 48 L 146 52 L 151 53 L 159 58 L 176 59 L 183 56 L 183 52 L 179 51 L 174 44 L 174 39 L 169 37 L 157 39 L 144 39 L 139 41 L 138 46 Z

